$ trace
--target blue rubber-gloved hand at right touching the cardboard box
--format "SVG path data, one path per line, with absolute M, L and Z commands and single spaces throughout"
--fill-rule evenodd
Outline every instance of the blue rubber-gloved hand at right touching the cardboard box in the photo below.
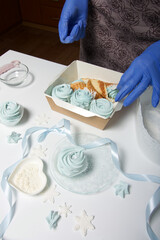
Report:
M 156 107 L 160 100 L 160 41 L 150 45 L 140 56 L 135 58 L 130 67 L 122 75 L 117 86 L 119 92 L 115 101 L 120 101 L 128 93 L 123 105 L 130 105 L 146 88 L 152 85 L 152 106 Z

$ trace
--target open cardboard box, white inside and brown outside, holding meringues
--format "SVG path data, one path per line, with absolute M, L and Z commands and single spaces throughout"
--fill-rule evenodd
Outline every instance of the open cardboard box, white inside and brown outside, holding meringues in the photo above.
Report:
M 58 74 L 58 76 L 56 76 L 53 82 L 50 83 L 49 87 L 46 89 L 45 96 L 52 110 L 92 125 L 96 128 L 104 129 L 109 120 L 113 117 L 114 113 L 122 108 L 121 102 L 114 102 L 113 113 L 109 118 L 105 118 L 89 110 L 74 106 L 69 102 L 53 97 L 52 89 L 56 85 L 71 84 L 73 81 L 81 78 L 98 79 L 104 82 L 118 84 L 121 76 L 122 73 L 76 60 L 67 66 L 65 70 Z

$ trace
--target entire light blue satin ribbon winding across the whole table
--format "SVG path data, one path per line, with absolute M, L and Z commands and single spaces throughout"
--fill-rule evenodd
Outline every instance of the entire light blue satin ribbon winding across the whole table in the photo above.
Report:
M 54 133 L 59 133 L 67 136 L 69 141 L 72 144 L 75 144 L 72 136 L 71 136 L 71 131 L 70 131 L 70 122 L 66 119 L 62 119 L 57 125 L 51 127 L 51 128 L 45 128 L 45 127 L 33 127 L 30 128 L 26 131 L 23 139 L 22 139 L 22 150 L 23 150 L 23 155 L 22 159 L 26 157 L 30 151 L 30 136 L 40 130 L 44 130 L 38 137 L 38 142 L 42 142 L 45 140 L 47 135 L 50 132 Z M 123 170 L 120 167 L 120 161 L 119 161 L 119 156 L 118 156 L 118 149 L 117 145 L 110 139 L 108 138 L 100 138 L 97 141 L 94 141 L 92 143 L 86 144 L 86 145 L 81 145 L 84 149 L 92 149 L 96 147 L 103 146 L 105 144 L 110 144 L 111 146 L 111 154 L 112 154 L 112 160 L 113 163 L 115 164 L 116 168 L 127 178 L 130 178 L 132 180 L 136 181 L 147 181 L 147 182 L 154 182 L 160 184 L 160 177 L 154 176 L 154 175 L 146 175 L 146 174 L 129 174 L 129 173 L 124 173 Z M 20 160 L 19 160 L 20 161 Z M 3 173 L 2 181 L 1 181 L 1 186 L 2 190 L 5 192 L 9 205 L 10 205 L 10 211 L 2 221 L 0 225 L 0 238 L 3 238 L 3 235 L 11 222 L 14 212 L 15 212 L 15 206 L 16 206 L 16 201 L 12 203 L 12 189 L 8 184 L 8 177 L 9 175 L 13 172 L 17 164 L 19 163 L 16 162 L 13 164 L 11 167 L 7 168 L 5 172 Z M 152 214 L 155 212 L 155 210 L 158 208 L 160 205 L 160 187 L 157 189 L 157 191 L 153 194 L 151 199 L 149 200 L 147 207 L 146 207 L 146 228 L 148 235 L 151 240 L 159 240 L 159 238 L 156 236 L 156 234 L 153 232 L 151 226 L 150 226 L 150 219 Z

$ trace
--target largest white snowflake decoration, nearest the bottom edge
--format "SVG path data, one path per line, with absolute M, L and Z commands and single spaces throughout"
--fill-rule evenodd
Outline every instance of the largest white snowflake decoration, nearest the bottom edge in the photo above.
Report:
M 83 210 L 81 216 L 76 216 L 77 224 L 75 226 L 75 230 L 80 230 L 82 235 L 86 236 L 89 229 L 95 229 L 94 225 L 91 223 L 93 219 L 94 216 L 88 216 L 86 211 Z

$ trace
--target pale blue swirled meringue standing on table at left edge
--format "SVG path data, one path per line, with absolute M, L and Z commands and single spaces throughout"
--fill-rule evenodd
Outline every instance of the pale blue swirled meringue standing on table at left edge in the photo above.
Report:
M 23 116 L 24 109 L 16 102 L 4 102 L 0 105 L 0 122 L 7 126 L 16 125 Z

